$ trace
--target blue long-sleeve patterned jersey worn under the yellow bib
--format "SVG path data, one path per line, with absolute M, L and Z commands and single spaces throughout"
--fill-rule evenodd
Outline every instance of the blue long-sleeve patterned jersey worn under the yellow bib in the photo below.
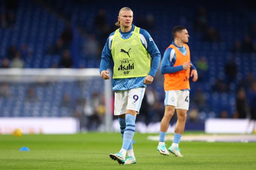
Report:
M 135 26 L 132 24 L 132 29 L 126 33 L 123 33 L 121 29 L 119 29 L 120 36 L 122 39 L 128 39 L 132 36 Z M 110 61 L 112 60 L 112 54 L 111 54 L 111 45 L 112 40 L 114 37 L 114 33 L 112 32 L 107 42 L 104 46 L 104 49 L 102 51 L 101 55 L 101 61 L 100 61 L 100 72 L 102 70 L 106 70 L 108 66 L 110 65 Z M 158 50 L 156 44 L 154 43 L 152 37 L 145 29 L 140 29 L 140 41 L 146 51 L 150 54 L 150 57 L 152 58 L 151 68 L 148 75 L 155 76 L 156 71 L 158 70 L 158 66 L 160 63 L 161 54 Z M 134 78 L 115 78 L 112 81 L 112 90 L 128 90 L 138 87 L 146 87 L 146 84 L 144 84 L 144 77 L 134 77 Z

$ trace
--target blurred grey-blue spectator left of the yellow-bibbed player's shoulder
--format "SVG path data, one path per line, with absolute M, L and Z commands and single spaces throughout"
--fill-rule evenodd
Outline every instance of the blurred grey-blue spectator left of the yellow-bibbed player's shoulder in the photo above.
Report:
M 84 43 L 84 54 L 86 59 L 100 59 L 100 49 L 94 34 L 90 34 L 88 41 Z

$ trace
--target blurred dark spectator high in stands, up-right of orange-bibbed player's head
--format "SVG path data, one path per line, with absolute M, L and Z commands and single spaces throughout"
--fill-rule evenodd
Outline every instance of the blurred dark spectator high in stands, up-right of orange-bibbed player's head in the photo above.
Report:
M 205 32 L 208 27 L 208 13 L 206 8 L 200 6 L 196 14 L 195 30 Z

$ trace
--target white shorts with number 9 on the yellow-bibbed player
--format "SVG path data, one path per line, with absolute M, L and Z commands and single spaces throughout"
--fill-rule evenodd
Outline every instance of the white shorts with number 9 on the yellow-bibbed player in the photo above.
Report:
M 116 90 L 114 115 L 122 115 L 126 110 L 140 111 L 141 102 L 145 93 L 145 87 L 130 90 Z

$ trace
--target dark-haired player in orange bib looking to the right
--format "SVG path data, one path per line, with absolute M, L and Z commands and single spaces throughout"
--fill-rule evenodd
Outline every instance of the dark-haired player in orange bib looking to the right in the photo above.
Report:
M 160 140 L 157 151 L 163 155 L 169 155 L 168 150 L 175 156 L 182 157 L 180 154 L 179 143 L 185 128 L 186 114 L 189 106 L 189 78 L 192 81 L 198 78 L 196 68 L 190 61 L 190 51 L 188 45 L 188 31 L 185 27 L 176 26 L 172 30 L 174 41 L 164 52 L 161 64 L 161 72 L 164 74 L 165 90 L 165 111 L 161 121 Z M 191 74 L 190 74 L 191 68 Z M 176 109 L 178 120 L 174 129 L 174 139 L 172 145 L 166 149 L 165 136 L 169 127 L 170 119 Z

